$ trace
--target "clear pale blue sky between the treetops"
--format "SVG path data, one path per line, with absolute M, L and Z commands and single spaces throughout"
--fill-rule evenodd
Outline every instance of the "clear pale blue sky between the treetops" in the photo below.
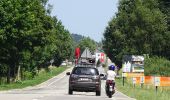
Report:
M 119 0 L 49 0 L 52 16 L 57 16 L 70 33 L 89 36 L 99 42 L 108 22 L 117 12 Z

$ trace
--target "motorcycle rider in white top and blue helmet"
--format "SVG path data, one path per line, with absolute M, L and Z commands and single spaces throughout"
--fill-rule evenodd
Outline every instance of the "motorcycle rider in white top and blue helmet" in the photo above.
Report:
M 109 89 L 109 82 L 111 81 L 113 84 L 113 88 L 115 86 L 115 77 L 116 77 L 116 73 L 115 73 L 115 66 L 114 65 L 110 65 L 109 70 L 106 73 L 106 93 L 108 94 L 108 89 Z M 115 92 L 115 91 L 114 91 Z

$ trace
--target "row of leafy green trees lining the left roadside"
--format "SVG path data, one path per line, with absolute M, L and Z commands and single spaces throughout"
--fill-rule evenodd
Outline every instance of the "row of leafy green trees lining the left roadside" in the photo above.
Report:
M 73 52 L 70 32 L 50 15 L 48 0 L 0 1 L 0 80 L 32 76 L 53 59 L 59 66 Z

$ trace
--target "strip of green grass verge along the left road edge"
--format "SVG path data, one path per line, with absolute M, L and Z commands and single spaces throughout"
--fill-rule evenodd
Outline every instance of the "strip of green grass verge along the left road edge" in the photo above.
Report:
M 51 68 L 49 72 L 41 71 L 35 78 L 31 80 L 24 80 L 21 82 L 11 83 L 11 84 L 2 84 L 0 85 L 0 90 L 9 90 L 9 89 L 18 89 L 18 88 L 24 88 L 28 86 L 35 86 L 38 85 L 56 75 L 59 73 L 65 71 L 67 67 L 58 67 L 58 68 Z

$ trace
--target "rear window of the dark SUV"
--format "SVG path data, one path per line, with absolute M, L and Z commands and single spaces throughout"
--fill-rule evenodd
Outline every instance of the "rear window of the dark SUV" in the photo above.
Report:
M 73 71 L 73 74 L 76 74 L 76 75 L 98 75 L 99 73 L 95 68 L 77 67 Z

